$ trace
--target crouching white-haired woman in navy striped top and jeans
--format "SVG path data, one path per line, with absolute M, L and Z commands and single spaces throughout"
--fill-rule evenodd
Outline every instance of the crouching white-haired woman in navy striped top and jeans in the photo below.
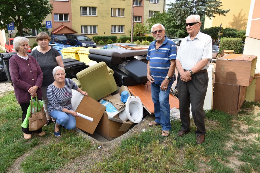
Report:
M 71 79 L 65 78 L 64 68 L 57 66 L 53 69 L 52 74 L 54 82 L 47 88 L 48 112 L 52 118 L 56 119 L 53 132 L 56 137 L 59 137 L 61 135 L 60 126 L 72 130 L 76 127 L 75 117 L 79 117 L 71 105 L 71 89 L 86 96 L 88 93 L 78 88 Z

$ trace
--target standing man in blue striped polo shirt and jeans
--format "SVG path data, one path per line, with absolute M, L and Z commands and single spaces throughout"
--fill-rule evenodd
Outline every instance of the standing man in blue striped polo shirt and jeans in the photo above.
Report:
M 160 23 L 152 26 L 155 38 L 148 49 L 146 59 L 147 78 L 151 82 L 155 120 L 149 126 L 162 126 L 162 136 L 169 136 L 171 130 L 169 94 L 174 81 L 176 45 L 164 36 L 165 28 Z

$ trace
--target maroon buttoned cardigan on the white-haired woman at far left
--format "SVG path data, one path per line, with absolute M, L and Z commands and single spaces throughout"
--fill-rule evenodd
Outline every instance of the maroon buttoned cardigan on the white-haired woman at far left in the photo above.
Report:
M 13 82 L 13 89 L 18 103 L 30 102 L 31 95 L 29 88 L 38 86 L 37 97 L 42 99 L 42 79 L 41 67 L 36 59 L 29 55 L 29 59 L 23 59 L 17 54 L 9 59 L 9 71 Z

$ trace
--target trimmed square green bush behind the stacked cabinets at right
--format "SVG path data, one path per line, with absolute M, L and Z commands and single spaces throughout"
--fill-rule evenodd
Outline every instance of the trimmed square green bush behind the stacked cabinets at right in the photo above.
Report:
M 234 50 L 234 54 L 242 54 L 242 39 L 223 37 L 220 40 L 219 52 L 222 52 L 223 49 Z

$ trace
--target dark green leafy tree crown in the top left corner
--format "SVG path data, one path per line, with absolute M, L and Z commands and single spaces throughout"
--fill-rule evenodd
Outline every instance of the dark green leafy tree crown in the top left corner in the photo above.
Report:
M 10 22 L 14 22 L 18 30 L 16 36 L 24 36 L 27 32 L 23 29 L 44 27 L 42 22 L 53 9 L 49 2 L 49 0 L 0 0 L 0 29 L 6 29 Z

